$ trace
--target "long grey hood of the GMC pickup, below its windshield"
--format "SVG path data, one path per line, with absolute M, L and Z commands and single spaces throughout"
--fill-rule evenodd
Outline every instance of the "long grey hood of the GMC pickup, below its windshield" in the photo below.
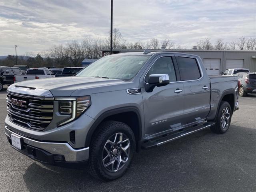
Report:
M 69 97 L 123 90 L 126 89 L 125 84 L 130 83 L 117 79 L 71 76 L 29 80 L 14 85 L 50 90 L 54 97 Z

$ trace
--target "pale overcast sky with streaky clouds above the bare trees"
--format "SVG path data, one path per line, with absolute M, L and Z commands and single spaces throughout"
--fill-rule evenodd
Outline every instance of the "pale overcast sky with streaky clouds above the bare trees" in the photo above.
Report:
M 113 27 L 128 42 L 256 37 L 256 0 L 114 0 Z M 0 0 L 0 55 L 41 52 L 84 37 L 106 38 L 110 0 Z

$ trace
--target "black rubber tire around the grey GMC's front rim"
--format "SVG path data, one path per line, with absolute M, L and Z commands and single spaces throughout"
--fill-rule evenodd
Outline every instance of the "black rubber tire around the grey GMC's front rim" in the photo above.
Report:
M 129 143 L 130 143 L 129 157 L 127 158 L 126 163 L 122 164 L 122 168 L 120 168 L 120 170 L 118 170 L 118 168 L 117 168 L 116 172 L 111 172 L 113 170 L 113 168 L 111 167 L 112 170 L 108 170 L 109 167 L 107 167 L 107 168 L 104 167 L 104 162 L 102 162 L 102 161 L 104 161 L 102 159 L 103 154 L 104 154 L 103 150 L 104 150 L 104 147 L 106 146 L 106 142 L 114 134 L 118 134 L 118 133 L 122 133 L 122 135 L 126 136 L 129 139 Z M 115 179 L 121 177 L 122 175 L 125 174 L 125 172 L 127 171 L 127 169 L 129 168 L 129 166 L 131 164 L 132 157 L 133 157 L 134 151 L 135 151 L 135 147 L 136 147 L 135 136 L 134 136 L 134 133 L 132 132 L 132 129 L 128 125 L 126 125 L 122 122 L 117 122 L 117 121 L 112 121 L 112 120 L 102 122 L 100 124 L 100 126 L 98 127 L 98 130 L 95 132 L 95 134 L 92 138 L 92 142 L 90 144 L 90 154 L 89 154 L 90 174 L 94 178 L 104 180 L 104 181 L 111 181 L 111 180 L 115 180 Z M 112 145 L 110 146 L 110 148 L 112 148 Z M 111 154 L 110 152 L 112 152 L 112 154 L 114 154 L 114 150 L 113 150 L 113 152 L 109 151 L 109 153 L 107 153 L 107 154 Z M 120 153 L 121 153 L 121 151 L 122 150 L 120 150 Z M 117 159 L 118 159 L 118 157 L 117 157 Z M 109 159 L 110 158 L 112 158 L 112 157 L 109 157 Z M 109 160 L 109 161 L 111 161 L 111 160 Z M 118 160 L 116 160 L 116 161 L 118 161 Z

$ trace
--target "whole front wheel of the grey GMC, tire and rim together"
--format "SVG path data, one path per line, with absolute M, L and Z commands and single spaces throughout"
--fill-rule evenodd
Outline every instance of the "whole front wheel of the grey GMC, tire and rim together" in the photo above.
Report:
M 125 174 L 135 151 L 131 128 L 117 121 L 103 122 L 92 138 L 89 169 L 94 178 L 111 181 Z

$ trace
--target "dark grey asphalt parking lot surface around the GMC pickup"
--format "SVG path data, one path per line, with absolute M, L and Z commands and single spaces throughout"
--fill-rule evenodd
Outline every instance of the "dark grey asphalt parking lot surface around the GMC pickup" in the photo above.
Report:
M 5 87 L 6 88 L 6 87 Z M 256 94 L 240 97 L 226 134 L 209 129 L 136 153 L 113 182 L 86 169 L 40 164 L 10 148 L 4 134 L 6 90 L 0 92 L 0 191 L 256 191 Z

